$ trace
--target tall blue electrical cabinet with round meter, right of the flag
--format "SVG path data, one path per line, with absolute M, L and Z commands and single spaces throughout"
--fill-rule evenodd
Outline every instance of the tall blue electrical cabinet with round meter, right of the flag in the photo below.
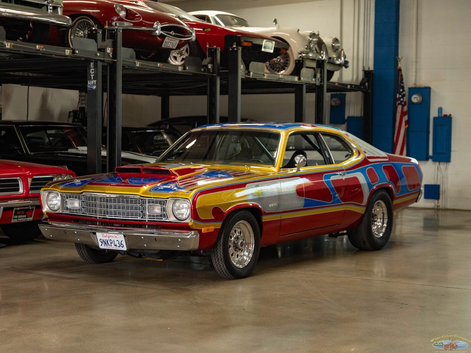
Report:
M 416 96 L 414 96 L 416 95 Z M 412 96 L 417 99 L 412 99 Z M 416 160 L 429 159 L 430 87 L 409 87 L 406 148 Z

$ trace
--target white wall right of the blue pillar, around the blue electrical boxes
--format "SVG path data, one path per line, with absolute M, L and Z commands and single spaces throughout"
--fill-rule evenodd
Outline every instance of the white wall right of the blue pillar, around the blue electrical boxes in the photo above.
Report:
M 439 106 L 453 115 L 453 131 L 450 163 L 420 162 L 424 183 L 441 185 L 441 200 L 417 206 L 471 209 L 471 1 L 419 0 L 418 14 L 417 86 L 431 87 L 430 135 Z M 412 76 L 412 15 L 413 1 L 402 0 L 399 56 L 406 87 Z

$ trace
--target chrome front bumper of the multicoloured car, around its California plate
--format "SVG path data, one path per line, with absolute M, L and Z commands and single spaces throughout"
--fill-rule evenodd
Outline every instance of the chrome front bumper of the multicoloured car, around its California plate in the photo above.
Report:
M 200 240 L 197 231 L 178 231 L 147 228 L 105 227 L 62 222 L 43 221 L 39 225 L 48 239 L 71 241 L 98 246 L 97 232 L 123 234 L 126 249 L 197 250 Z

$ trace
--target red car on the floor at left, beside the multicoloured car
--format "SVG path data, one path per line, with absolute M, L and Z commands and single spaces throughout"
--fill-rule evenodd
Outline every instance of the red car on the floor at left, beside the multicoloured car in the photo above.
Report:
M 72 170 L 41 164 L 0 160 L 0 228 L 8 238 L 27 241 L 41 235 L 41 188 L 75 176 Z

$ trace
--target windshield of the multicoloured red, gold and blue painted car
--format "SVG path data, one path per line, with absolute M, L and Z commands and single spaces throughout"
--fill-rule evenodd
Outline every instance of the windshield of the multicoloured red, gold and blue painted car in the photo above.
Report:
M 201 130 L 189 132 L 158 162 L 216 162 L 274 166 L 280 134 L 253 130 Z

